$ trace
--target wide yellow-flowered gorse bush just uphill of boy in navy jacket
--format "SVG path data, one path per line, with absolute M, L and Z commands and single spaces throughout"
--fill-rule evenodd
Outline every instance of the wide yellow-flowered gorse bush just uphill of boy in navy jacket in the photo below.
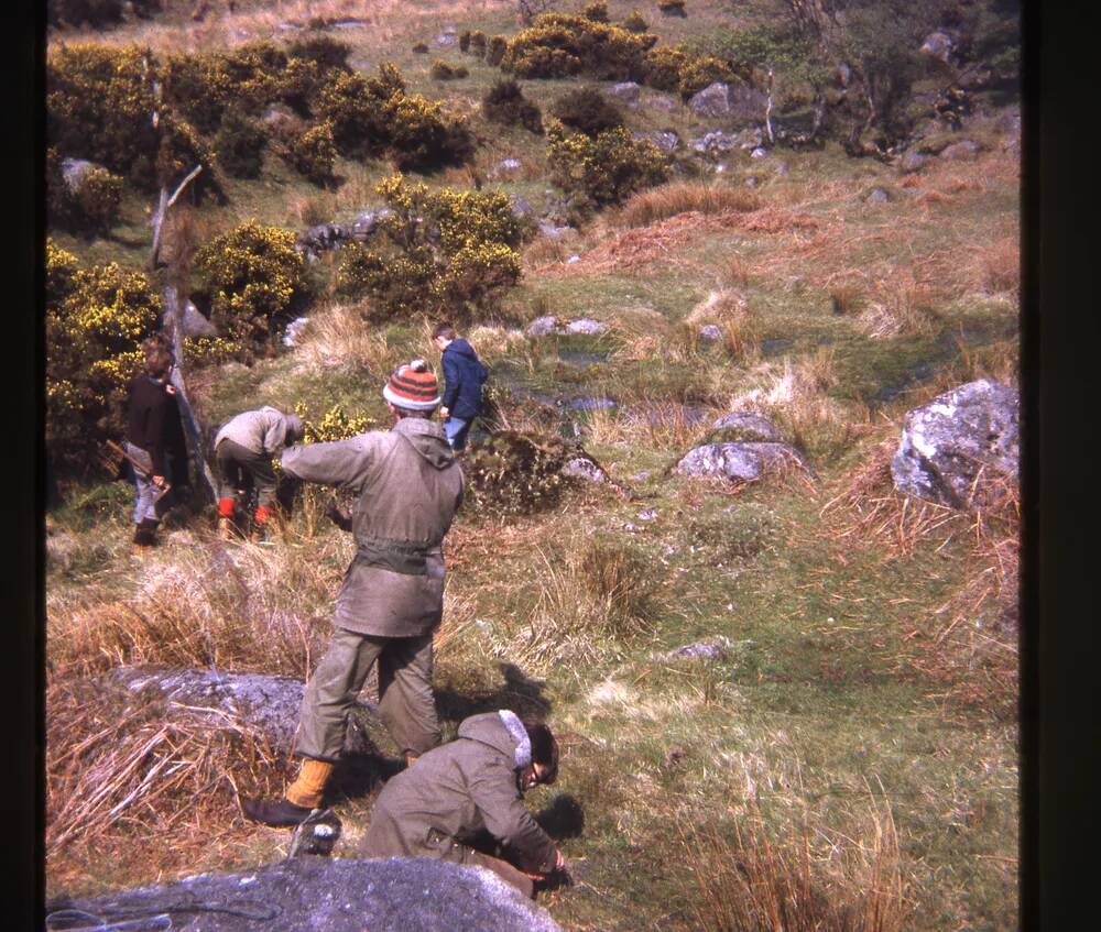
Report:
M 394 175 L 378 194 L 391 212 L 370 249 L 341 251 L 338 288 L 367 295 L 375 314 L 445 313 L 468 319 L 492 308 L 520 278 L 517 246 L 527 228 L 506 195 L 429 190 Z

